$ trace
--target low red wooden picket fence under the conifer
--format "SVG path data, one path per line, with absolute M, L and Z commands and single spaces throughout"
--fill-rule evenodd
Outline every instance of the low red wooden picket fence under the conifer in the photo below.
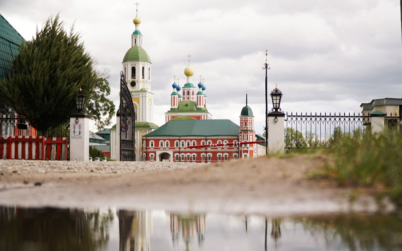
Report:
M 0 159 L 9 160 L 67 160 L 67 138 L 43 136 L 10 136 L 0 138 Z

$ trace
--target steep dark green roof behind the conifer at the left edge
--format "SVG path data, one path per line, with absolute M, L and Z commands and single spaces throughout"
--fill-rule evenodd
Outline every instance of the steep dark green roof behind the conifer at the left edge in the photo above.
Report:
M 0 80 L 10 69 L 24 38 L 0 14 Z

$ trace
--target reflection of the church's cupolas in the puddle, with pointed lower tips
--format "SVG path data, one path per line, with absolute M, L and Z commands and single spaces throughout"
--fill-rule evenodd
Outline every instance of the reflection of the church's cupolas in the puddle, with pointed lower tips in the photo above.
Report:
M 206 231 L 205 214 L 183 215 L 170 214 L 170 233 L 172 234 L 173 248 L 178 246 L 179 235 L 183 238 L 186 251 L 191 250 L 191 241 L 197 235 L 198 246 L 203 246 Z

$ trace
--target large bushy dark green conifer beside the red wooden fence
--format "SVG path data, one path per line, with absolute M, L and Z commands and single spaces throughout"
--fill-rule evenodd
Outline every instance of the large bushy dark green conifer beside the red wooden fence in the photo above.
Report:
M 69 33 L 64 31 L 56 15 L 37 29 L 35 38 L 21 45 L 9 76 L 0 85 L 0 96 L 3 105 L 47 136 L 50 128 L 76 112 L 75 95 L 80 88 L 91 99 L 96 81 L 93 61 L 80 35 L 73 27 Z

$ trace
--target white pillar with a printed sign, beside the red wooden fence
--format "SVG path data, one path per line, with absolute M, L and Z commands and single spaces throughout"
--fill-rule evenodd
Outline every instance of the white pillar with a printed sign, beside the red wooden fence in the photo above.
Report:
M 89 115 L 70 115 L 70 160 L 89 161 Z

